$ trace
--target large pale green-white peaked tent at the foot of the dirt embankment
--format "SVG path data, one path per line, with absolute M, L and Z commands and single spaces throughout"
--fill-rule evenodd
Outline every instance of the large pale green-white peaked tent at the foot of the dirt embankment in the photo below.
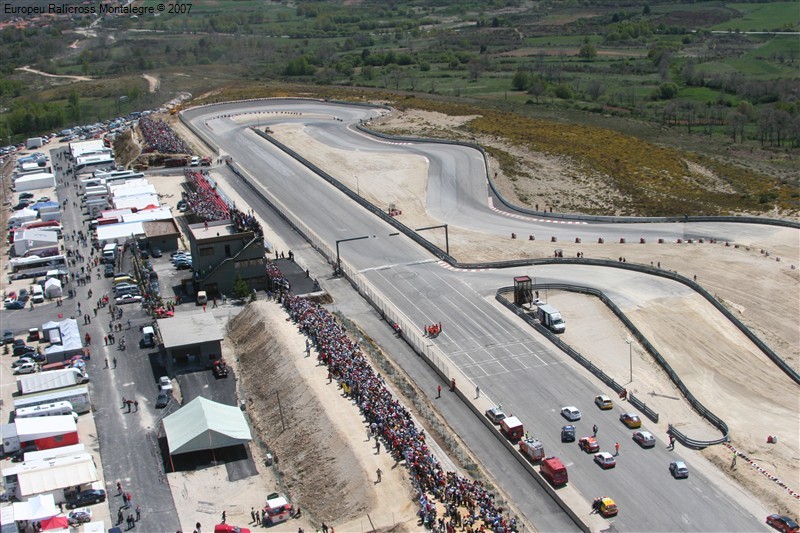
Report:
M 164 419 L 169 453 L 177 455 L 244 444 L 252 440 L 244 413 L 198 396 Z

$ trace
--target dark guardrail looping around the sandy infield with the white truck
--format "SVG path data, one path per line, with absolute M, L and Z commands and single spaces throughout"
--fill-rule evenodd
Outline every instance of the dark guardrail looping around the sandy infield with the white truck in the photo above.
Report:
M 591 294 L 591 295 L 594 295 L 594 296 L 597 296 L 598 298 L 600 298 L 602 300 L 602 302 L 604 304 L 606 304 L 606 306 L 608 306 L 608 308 L 623 322 L 625 327 L 628 328 L 628 330 L 636 338 L 636 340 L 638 340 L 642 344 L 642 346 L 644 346 L 645 350 L 647 350 L 648 353 L 650 353 L 650 355 L 653 356 L 653 358 L 656 360 L 656 362 L 658 362 L 658 364 L 661 366 L 661 368 L 664 369 L 664 371 L 669 376 L 670 380 L 672 380 L 672 382 L 675 383 L 675 385 L 678 387 L 678 389 L 684 395 L 684 397 L 689 402 L 689 404 L 692 406 L 692 408 L 695 411 L 697 411 L 697 413 L 701 417 L 705 418 L 714 427 L 719 429 L 723 434 L 722 438 L 720 438 L 720 439 L 715 439 L 715 440 L 710 440 L 710 441 L 702 441 L 702 440 L 692 439 L 688 435 L 685 435 L 684 433 L 681 433 L 680 431 L 675 430 L 672 427 L 672 425 L 670 424 L 670 426 L 669 426 L 670 427 L 670 432 L 673 434 L 673 436 L 681 444 L 683 444 L 683 445 L 685 445 L 687 447 L 695 448 L 695 449 L 702 449 L 702 448 L 706 448 L 708 446 L 713 446 L 715 444 L 722 444 L 723 442 L 727 442 L 729 440 L 729 437 L 728 437 L 728 431 L 729 431 L 728 430 L 728 425 L 722 419 L 720 419 L 718 416 L 714 415 L 714 413 L 712 413 L 711 411 L 706 409 L 705 406 L 703 406 L 703 404 L 700 403 L 700 401 L 697 398 L 695 398 L 695 396 L 689 391 L 689 389 L 686 387 L 686 385 L 683 383 L 683 381 L 681 381 L 681 379 L 678 376 L 678 374 L 672 369 L 672 367 L 669 365 L 669 363 L 667 363 L 667 361 L 661 356 L 661 354 L 658 352 L 658 350 L 655 349 L 655 347 L 650 343 L 649 340 L 647 340 L 647 338 L 642 334 L 642 332 L 639 331 L 639 329 L 636 326 L 633 325 L 633 323 L 628 319 L 627 316 L 625 316 L 625 313 L 623 313 L 622 310 L 620 310 L 619 307 L 617 307 L 616 304 L 614 304 L 614 302 L 612 302 L 605 295 L 605 293 L 603 293 L 603 291 L 600 291 L 598 289 L 594 289 L 592 287 L 584 287 L 584 286 L 580 286 L 580 285 L 567 285 L 567 284 L 561 284 L 561 283 L 542 283 L 542 284 L 537 284 L 534 287 L 536 289 L 540 289 L 540 290 L 542 290 L 542 289 L 557 289 L 557 290 L 565 290 L 565 291 L 572 291 L 572 292 L 582 292 L 582 293 Z M 495 295 L 495 299 L 498 302 L 500 302 L 501 304 L 503 304 L 507 309 L 513 311 L 514 314 L 516 314 L 517 316 L 519 316 L 520 318 L 525 320 L 525 322 L 530 324 L 531 327 L 533 327 L 536 331 L 538 331 L 539 333 L 541 333 L 542 335 L 547 337 L 548 340 L 550 340 L 553 344 L 558 346 L 567 355 L 569 355 L 570 357 L 575 359 L 575 361 L 577 361 L 580 365 L 582 365 L 584 368 L 589 370 L 589 372 L 591 372 L 592 374 L 597 376 L 601 381 L 603 381 L 603 383 L 605 383 L 606 385 L 608 385 L 609 387 L 611 387 L 612 389 L 614 389 L 617 392 L 620 392 L 622 390 L 622 386 L 619 385 L 612 378 L 610 378 L 605 372 L 603 372 L 601 369 L 599 369 L 597 366 L 595 366 L 591 361 L 589 361 L 588 359 L 583 357 L 575 349 L 573 349 L 568 344 L 566 344 L 561 339 L 559 339 L 549 329 L 547 329 L 544 326 L 542 326 L 541 324 L 539 324 L 539 322 L 537 320 L 535 320 L 534 318 L 532 318 L 530 315 L 528 315 L 528 313 L 526 313 L 525 311 L 523 311 L 522 309 L 520 309 L 519 307 L 514 305 L 513 302 L 509 301 L 507 298 L 505 298 L 503 296 L 503 295 L 505 295 L 505 294 L 507 294 L 509 292 L 513 292 L 513 291 L 514 291 L 513 287 L 502 287 L 502 288 L 497 290 L 497 293 Z M 641 402 L 641 400 L 639 400 L 638 398 L 636 398 L 632 394 L 628 394 L 628 400 L 630 400 L 630 402 L 635 407 L 637 407 L 642 413 L 644 413 L 644 415 L 647 416 L 647 418 L 649 418 L 650 420 L 652 420 L 654 422 L 658 422 L 658 419 L 659 419 L 658 413 L 656 413 L 655 411 L 653 411 L 652 409 L 647 407 L 647 405 L 644 404 L 643 402 Z

